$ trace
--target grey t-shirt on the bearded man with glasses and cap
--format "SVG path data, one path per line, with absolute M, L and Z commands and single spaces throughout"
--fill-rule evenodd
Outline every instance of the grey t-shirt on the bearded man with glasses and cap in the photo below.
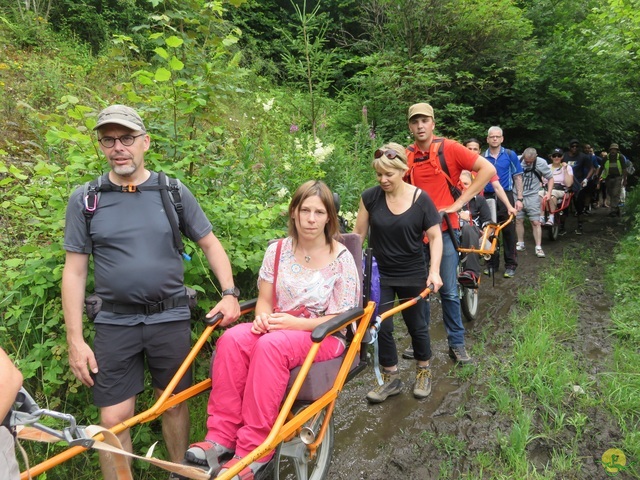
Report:
M 158 185 L 158 174 L 152 172 L 142 185 Z M 103 300 L 154 304 L 184 294 L 183 260 L 174 245 L 159 191 L 102 192 L 91 219 L 90 236 L 87 236 L 82 197 L 83 187 L 79 187 L 69 199 L 64 249 L 93 255 L 95 292 Z M 211 232 L 211 222 L 184 185 L 181 197 L 186 235 L 198 241 Z M 169 213 L 177 221 L 175 209 Z M 135 325 L 189 317 L 189 308 L 184 306 L 149 316 L 100 312 L 95 322 Z

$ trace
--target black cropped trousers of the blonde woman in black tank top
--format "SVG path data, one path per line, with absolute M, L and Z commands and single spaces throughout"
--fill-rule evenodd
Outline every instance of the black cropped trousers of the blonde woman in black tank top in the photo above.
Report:
M 393 301 L 398 296 L 400 301 L 417 297 L 425 289 L 426 285 L 415 287 L 389 287 L 380 286 L 380 305 L 378 313 L 384 313 L 393 307 Z M 429 323 L 425 316 L 426 310 L 422 301 L 402 311 L 402 318 L 411 335 L 413 356 L 418 361 L 426 361 L 431 358 L 431 336 L 429 335 Z M 393 318 L 387 318 L 380 325 L 378 332 L 378 346 L 380 365 L 393 367 L 398 364 L 398 349 L 393 339 Z

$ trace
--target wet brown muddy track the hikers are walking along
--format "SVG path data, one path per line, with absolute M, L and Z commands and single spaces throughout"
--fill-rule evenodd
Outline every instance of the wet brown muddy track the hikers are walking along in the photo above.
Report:
M 534 243 L 530 228 L 526 231 L 527 250 L 519 254 L 516 277 L 502 277 L 504 266 L 495 277 L 495 286 L 484 277 L 480 287 L 480 312 L 478 320 L 465 322 L 467 347 L 483 339 L 508 333 L 500 319 L 506 318 L 514 307 L 519 291 L 533 286 L 540 269 L 548 267 L 554 260 L 577 252 L 589 252 L 586 258 L 587 275 L 584 280 L 588 294 L 581 298 L 579 341 L 574 342 L 574 351 L 581 358 L 593 361 L 593 373 L 601 369 L 612 351 L 607 340 L 606 326 L 609 321 L 609 300 L 602 289 L 604 265 L 613 247 L 623 234 L 618 219 L 609 218 L 605 209 L 597 209 L 585 218 L 584 235 L 573 231 L 575 218 L 567 222 L 568 233 L 556 242 L 548 240 L 543 231 L 542 246 L 547 255 L 540 259 L 534 255 Z M 584 255 L 581 258 L 585 258 Z M 502 263 L 502 262 L 501 262 Z M 334 457 L 329 472 L 331 480 L 340 479 L 435 479 L 440 464 L 453 460 L 456 472 L 448 478 L 468 471 L 467 458 L 480 451 L 496 448 L 496 430 L 510 430 L 510 422 L 495 412 L 486 411 L 486 403 L 478 400 L 484 396 L 482 358 L 475 358 L 478 371 L 468 380 L 449 375 L 456 368 L 447 354 L 446 334 L 442 324 L 438 302 L 432 304 L 431 336 L 434 358 L 432 359 L 433 390 L 430 397 L 418 401 L 411 394 L 413 383 L 413 361 L 400 360 L 399 368 L 404 382 L 402 394 L 389 398 L 379 405 L 369 405 L 365 395 L 375 382 L 372 369 L 368 369 L 346 385 L 335 413 L 336 440 Z M 399 351 L 410 345 L 401 319 L 396 319 L 396 340 Z M 509 338 L 508 335 L 505 338 Z M 500 355 L 500 348 L 492 353 Z M 507 353 L 508 344 L 504 344 Z M 603 470 L 596 465 L 598 456 L 619 438 L 609 419 L 599 419 L 597 431 L 592 435 L 592 444 L 581 450 L 585 456 L 584 476 L 602 478 Z M 592 422 L 593 423 L 593 422 Z M 420 441 L 420 436 L 431 433 L 453 435 L 461 441 L 450 446 L 449 452 Z M 585 437 L 588 437 L 585 435 Z M 464 443 L 462 443 L 464 442 Z M 535 449 L 539 448 L 540 452 Z M 530 457 L 544 465 L 550 452 L 543 446 L 531 445 Z M 477 472 L 476 472 L 477 474 Z

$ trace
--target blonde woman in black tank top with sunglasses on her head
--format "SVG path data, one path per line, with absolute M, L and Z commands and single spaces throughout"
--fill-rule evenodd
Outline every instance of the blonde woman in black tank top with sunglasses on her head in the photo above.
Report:
M 376 150 L 372 166 L 379 185 L 362 193 L 354 232 L 363 242 L 369 235 L 369 246 L 380 270 L 379 311 L 382 313 L 393 307 L 396 298 L 415 297 L 426 285 L 433 285 L 434 292 L 442 286 L 439 273 L 442 234 L 440 215 L 431 199 L 403 181 L 408 170 L 404 147 L 397 143 L 384 145 Z M 425 235 L 431 254 L 428 266 L 423 253 Z M 425 398 L 431 393 L 431 338 L 425 308 L 428 305 L 419 302 L 402 311 L 416 359 L 413 389 L 416 398 Z M 378 342 L 384 383 L 367 395 L 371 403 L 383 402 L 402 390 L 393 319 L 382 323 Z

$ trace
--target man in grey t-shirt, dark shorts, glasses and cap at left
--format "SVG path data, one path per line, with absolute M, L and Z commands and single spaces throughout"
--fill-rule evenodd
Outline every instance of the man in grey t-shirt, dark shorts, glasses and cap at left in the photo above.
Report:
M 223 290 L 222 300 L 207 316 L 220 312 L 226 325 L 240 316 L 240 307 L 229 258 L 193 194 L 181 186 L 180 213 L 165 208 L 167 186 L 145 168 L 151 139 L 138 113 L 112 105 L 100 112 L 94 130 L 110 171 L 100 177 L 99 197 L 90 198 L 80 187 L 69 199 L 62 308 L 71 370 L 92 389 L 101 424 L 111 428 L 134 415 L 136 396 L 144 389 L 145 363 L 159 396 L 190 350 L 180 235 L 176 241 L 171 226 L 176 217 L 184 234 L 202 248 Z M 93 348 L 85 341 L 82 323 L 90 255 L 95 293 L 102 301 L 94 319 Z M 190 383 L 186 375 L 175 392 Z M 170 459 L 179 462 L 188 446 L 186 403 L 163 414 L 162 431 Z M 118 437 L 131 451 L 129 431 Z M 104 478 L 115 479 L 107 458 L 101 454 Z

